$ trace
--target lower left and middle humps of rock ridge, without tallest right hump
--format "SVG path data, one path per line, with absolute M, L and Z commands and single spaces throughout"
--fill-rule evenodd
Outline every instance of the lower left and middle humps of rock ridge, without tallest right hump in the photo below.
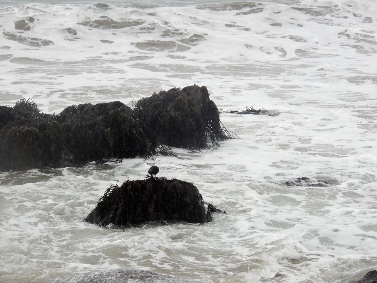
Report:
M 174 155 L 121 102 L 44 114 L 31 100 L 0 108 L 0 170 L 80 166 L 109 158 Z

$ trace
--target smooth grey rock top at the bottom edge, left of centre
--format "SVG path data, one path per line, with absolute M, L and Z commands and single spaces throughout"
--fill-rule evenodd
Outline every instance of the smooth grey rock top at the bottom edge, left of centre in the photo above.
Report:
M 47 280 L 44 283 L 194 283 L 195 280 L 158 274 L 143 269 L 110 269 Z

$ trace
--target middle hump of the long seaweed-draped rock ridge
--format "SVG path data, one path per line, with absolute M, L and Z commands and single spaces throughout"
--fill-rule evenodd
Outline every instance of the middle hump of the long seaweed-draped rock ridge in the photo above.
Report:
M 122 102 L 69 106 L 58 116 L 66 149 L 74 164 L 103 158 L 173 155 L 135 121 L 132 109 Z

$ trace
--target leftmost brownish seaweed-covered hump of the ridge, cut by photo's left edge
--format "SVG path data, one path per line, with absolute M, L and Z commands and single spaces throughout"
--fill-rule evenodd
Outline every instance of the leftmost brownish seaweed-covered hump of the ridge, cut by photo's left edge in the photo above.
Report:
M 61 167 L 63 136 L 55 115 L 43 114 L 30 100 L 2 107 L 0 170 Z

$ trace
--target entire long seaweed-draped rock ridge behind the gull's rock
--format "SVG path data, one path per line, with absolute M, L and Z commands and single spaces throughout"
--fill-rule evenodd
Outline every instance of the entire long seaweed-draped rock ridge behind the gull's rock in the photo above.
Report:
M 31 100 L 0 106 L 0 171 L 80 166 L 111 158 L 151 158 L 218 145 L 221 127 L 205 86 L 161 91 L 131 109 L 119 101 L 44 114 Z

